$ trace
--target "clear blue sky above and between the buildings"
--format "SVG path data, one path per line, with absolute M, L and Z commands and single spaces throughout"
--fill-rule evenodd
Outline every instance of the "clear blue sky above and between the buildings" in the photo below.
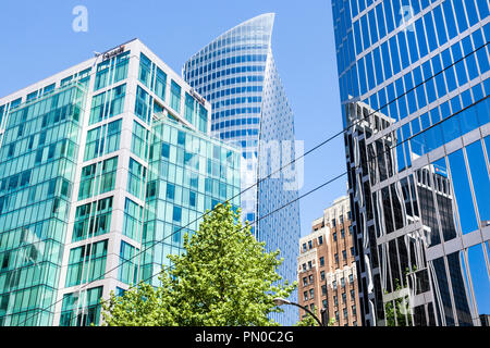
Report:
M 75 33 L 72 10 L 88 10 L 88 32 Z M 0 96 L 7 96 L 132 38 L 139 38 L 174 71 L 235 25 L 274 12 L 272 50 L 295 113 L 296 138 L 309 149 L 342 128 L 330 0 L 4 1 L 0 12 Z M 345 171 L 343 138 L 305 159 L 303 192 Z M 302 235 L 346 177 L 301 201 Z

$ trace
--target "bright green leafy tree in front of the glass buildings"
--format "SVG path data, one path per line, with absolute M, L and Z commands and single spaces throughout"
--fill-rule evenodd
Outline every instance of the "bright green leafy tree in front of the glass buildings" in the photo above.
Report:
M 109 326 L 235 326 L 278 325 L 271 312 L 282 312 L 275 297 L 287 298 L 296 282 L 280 284 L 279 251 L 267 252 L 264 243 L 240 222 L 240 211 L 218 206 L 204 217 L 199 231 L 184 236 L 184 252 L 169 256 L 161 286 L 139 284 L 123 296 L 111 294 L 102 303 Z

